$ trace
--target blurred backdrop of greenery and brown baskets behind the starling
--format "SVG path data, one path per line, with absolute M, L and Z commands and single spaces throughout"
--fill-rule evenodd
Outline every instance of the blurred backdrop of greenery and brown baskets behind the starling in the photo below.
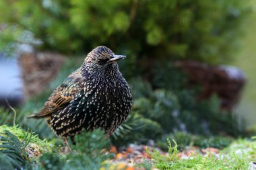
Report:
M 181 133 L 251 136 L 255 7 L 241 0 L 2 0 L 0 124 L 54 136 L 44 120 L 26 116 L 104 45 L 128 56 L 119 68 L 133 93 L 132 113 L 112 136 L 117 145 Z

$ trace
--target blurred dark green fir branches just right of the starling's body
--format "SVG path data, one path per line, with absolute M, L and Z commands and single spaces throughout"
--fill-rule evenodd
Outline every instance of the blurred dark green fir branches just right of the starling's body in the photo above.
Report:
M 195 89 L 150 90 L 148 83 L 139 85 L 143 81 L 134 82 L 134 85 L 131 83 L 135 98 L 133 112 L 157 122 L 166 133 L 183 131 L 193 134 L 237 135 L 240 132 L 232 114 L 220 110 L 220 102 L 215 95 L 198 101 L 198 91 Z M 141 87 L 144 90 L 141 91 Z

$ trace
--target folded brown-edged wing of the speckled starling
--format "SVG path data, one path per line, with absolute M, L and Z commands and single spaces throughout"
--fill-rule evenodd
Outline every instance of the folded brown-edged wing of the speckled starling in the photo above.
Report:
M 82 83 L 84 77 L 80 75 L 72 75 L 67 77 L 65 81 L 53 91 L 48 101 L 44 103 L 44 107 L 37 114 L 32 114 L 28 118 L 44 118 L 51 116 L 57 110 L 65 108 L 75 95 L 83 89 Z

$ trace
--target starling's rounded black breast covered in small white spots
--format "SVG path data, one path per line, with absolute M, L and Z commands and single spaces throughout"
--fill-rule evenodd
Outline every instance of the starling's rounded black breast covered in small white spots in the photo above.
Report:
M 124 79 L 101 79 L 90 83 L 84 91 L 85 97 L 81 105 L 84 112 L 84 126 L 90 128 L 104 128 L 113 132 L 123 123 L 131 111 L 131 91 Z M 83 101 L 84 100 L 84 101 Z

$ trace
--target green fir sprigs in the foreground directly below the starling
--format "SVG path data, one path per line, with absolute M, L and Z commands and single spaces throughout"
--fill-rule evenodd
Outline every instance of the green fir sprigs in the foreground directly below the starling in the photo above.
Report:
M 70 142 L 71 144 L 71 142 Z M 110 144 L 109 139 L 104 139 L 104 132 L 82 132 L 75 136 L 75 145 L 71 144 L 73 153 L 57 155 L 44 153 L 40 157 L 40 169 L 100 169 L 102 163 L 112 157 L 109 153 L 103 153 L 103 149 Z

